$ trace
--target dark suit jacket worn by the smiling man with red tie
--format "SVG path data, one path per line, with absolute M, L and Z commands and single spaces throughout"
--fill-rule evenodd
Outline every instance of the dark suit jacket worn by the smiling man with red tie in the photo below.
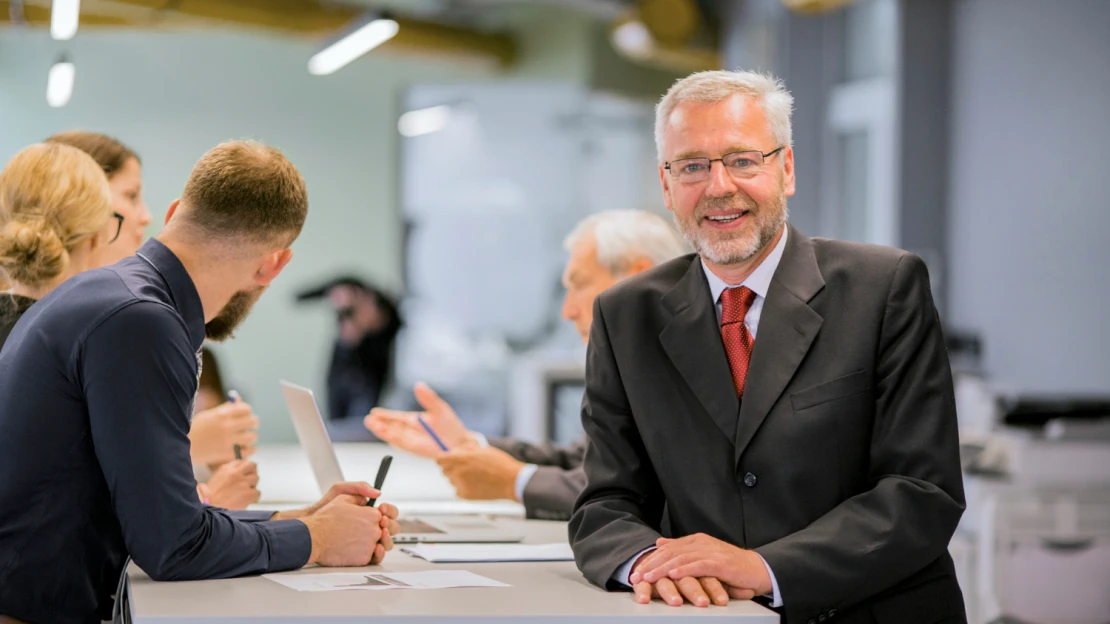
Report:
M 582 417 L 569 531 L 591 582 L 705 533 L 767 561 L 791 624 L 963 617 L 952 379 L 919 258 L 791 228 L 743 405 L 698 258 L 626 280 L 594 306 Z

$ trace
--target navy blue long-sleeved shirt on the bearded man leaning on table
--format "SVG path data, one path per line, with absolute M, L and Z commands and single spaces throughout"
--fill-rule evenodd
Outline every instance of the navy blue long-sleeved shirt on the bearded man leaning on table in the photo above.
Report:
M 0 352 L 0 614 L 97 622 L 128 555 L 160 581 L 304 565 L 296 520 L 202 505 L 189 459 L 200 295 L 150 241 L 31 306 Z

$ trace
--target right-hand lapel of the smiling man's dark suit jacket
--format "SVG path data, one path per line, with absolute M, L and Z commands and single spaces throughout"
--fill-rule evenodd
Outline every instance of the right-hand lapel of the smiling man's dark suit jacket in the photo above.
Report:
M 820 314 L 808 305 L 825 286 L 814 255 L 814 243 L 793 227 L 788 228 L 790 234 L 771 278 L 751 351 L 736 429 L 737 462 L 794 378 L 821 328 Z M 726 362 L 726 371 L 727 366 Z

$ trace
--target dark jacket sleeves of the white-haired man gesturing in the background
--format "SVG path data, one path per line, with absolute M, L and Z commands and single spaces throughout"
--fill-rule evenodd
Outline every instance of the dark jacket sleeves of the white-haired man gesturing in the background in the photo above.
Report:
M 585 439 L 569 446 L 537 445 L 507 437 L 491 440 L 490 445 L 505 451 L 517 461 L 539 466 L 524 486 L 522 502 L 528 519 L 569 520 L 574 501 L 586 486 L 586 473 L 582 470 Z

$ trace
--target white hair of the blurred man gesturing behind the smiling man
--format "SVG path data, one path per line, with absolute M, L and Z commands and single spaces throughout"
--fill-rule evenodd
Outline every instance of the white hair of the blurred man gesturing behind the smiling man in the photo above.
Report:
M 645 210 L 608 210 L 579 222 L 563 241 L 571 251 L 583 238 L 597 243 L 597 262 L 614 275 L 624 273 L 639 258 L 653 265 L 688 252 L 678 232 L 663 217 Z

